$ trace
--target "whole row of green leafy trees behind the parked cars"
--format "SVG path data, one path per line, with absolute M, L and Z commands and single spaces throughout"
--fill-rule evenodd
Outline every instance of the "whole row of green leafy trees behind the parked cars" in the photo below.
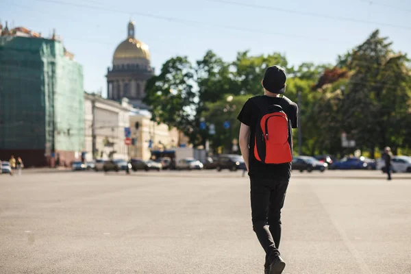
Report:
M 393 51 L 391 42 L 378 31 L 362 45 L 338 55 L 335 66 L 308 62 L 290 67 L 280 53 L 253 56 L 249 51 L 225 62 L 207 51 L 194 66 L 186 57 L 164 63 L 160 75 L 147 84 L 145 103 L 151 105 L 154 121 L 177 127 L 194 145 L 210 140 L 214 149 L 223 146 L 229 151 L 238 135 L 238 112 L 249 97 L 262 94 L 264 71 L 277 64 L 288 73 L 286 96 L 297 101 L 301 92 L 303 154 L 353 152 L 341 147 L 342 132 L 356 140 L 356 149 L 371 156 L 387 145 L 394 151 L 410 151 L 408 63 L 407 56 Z M 227 101 L 230 95 L 233 99 Z M 199 129 L 201 121 L 214 124 L 216 134 Z M 232 127 L 225 129 L 225 121 Z M 297 134 L 294 143 L 298 151 Z

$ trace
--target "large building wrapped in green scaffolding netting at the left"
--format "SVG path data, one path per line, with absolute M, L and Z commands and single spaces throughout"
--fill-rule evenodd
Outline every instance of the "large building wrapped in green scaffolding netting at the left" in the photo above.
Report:
M 26 30 L 0 37 L 0 159 L 69 164 L 84 149 L 82 66 L 54 35 Z

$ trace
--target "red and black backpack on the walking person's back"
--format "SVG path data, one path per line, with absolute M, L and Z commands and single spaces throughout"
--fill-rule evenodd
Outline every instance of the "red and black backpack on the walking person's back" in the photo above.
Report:
M 260 110 L 254 138 L 254 156 L 264 164 L 292 162 L 291 125 L 286 112 L 281 105 L 267 106 L 264 97 L 255 97 L 254 101 Z

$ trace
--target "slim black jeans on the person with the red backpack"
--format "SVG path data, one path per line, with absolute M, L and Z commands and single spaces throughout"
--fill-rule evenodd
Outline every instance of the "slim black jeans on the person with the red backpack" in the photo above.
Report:
M 288 181 L 251 178 L 251 218 L 253 230 L 266 252 L 265 267 L 279 255 L 281 209 L 284 206 Z

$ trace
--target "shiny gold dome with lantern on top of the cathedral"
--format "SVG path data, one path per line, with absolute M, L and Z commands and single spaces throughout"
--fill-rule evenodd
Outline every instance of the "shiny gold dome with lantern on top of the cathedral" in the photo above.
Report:
M 150 60 L 149 46 L 134 37 L 134 22 L 128 25 L 128 36 L 117 46 L 113 60 L 144 58 Z

